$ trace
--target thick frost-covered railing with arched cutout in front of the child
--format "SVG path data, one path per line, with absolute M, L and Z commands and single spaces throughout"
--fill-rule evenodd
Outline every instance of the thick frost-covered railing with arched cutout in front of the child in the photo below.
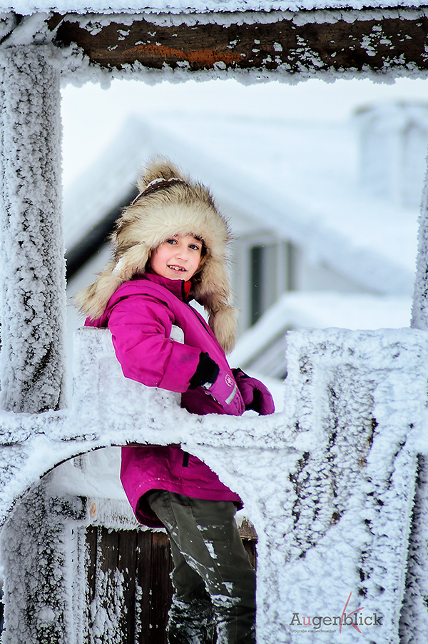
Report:
M 182 443 L 242 495 L 258 532 L 259 643 L 300 641 L 299 631 L 313 628 L 330 644 L 356 636 L 397 643 L 406 574 L 403 640 L 426 632 L 423 498 L 409 568 L 407 544 L 417 451 L 425 449 L 428 333 L 296 331 L 287 357 L 285 412 L 200 417 L 181 409 L 175 394 L 124 378 L 108 331 L 78 331 L 70 408 L 0 413 L 6 618 L 14 625 L 4 634 L 5 644 L 31 635 L 25 592 L 18 590 L 19 584 L 25 587 L 26 556 L 33 557 L 34 579 L 37 553 L 19 555 L 8 545 L 20 495 L 65 459 L 130 441 Z M 421 495 L 423 490 L 419 485 Z M 56 526 L 61 553 L 66 545 Z M 56 595 L 62 588 L 63 600 L 46 596 L 41 622 L 49 615 L 61 625 L 58 641 L 70 644 L 79 640 L 73 639 L 76 628 L 67 608 L 66 551 L 61 565 Z M 343 610 L 349 615 L 362 606 L 352 616 L 361 633 L 351 618 L 340 627 Z

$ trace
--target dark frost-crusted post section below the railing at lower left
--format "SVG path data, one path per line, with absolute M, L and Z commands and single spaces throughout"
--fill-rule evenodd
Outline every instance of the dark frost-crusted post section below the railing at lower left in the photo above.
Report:
M 67 522 L 84 516 L 79 498 L 56 499 L 37 486 L 14 510 L 2 533 L 2 562 L 8 573 L 3 644 L 71 644 L 71 551 Z M 68 540 L 67 540 L 68 538 Z M 67 565 L 68 564 L 68 565 Z

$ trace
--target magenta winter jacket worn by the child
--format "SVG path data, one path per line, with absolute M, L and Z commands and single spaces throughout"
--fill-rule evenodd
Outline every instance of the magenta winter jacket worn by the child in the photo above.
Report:
M 182 393 L 181 406 L 191 413 L 226 413 L 202 388 L 188 388 L 201 351 L 232 378 L 233 373 L 213 331 L 186 302 L 184 286 L 181 280 L 145 273 L 123 283 L 103 315 L 85 325 L 110 329 L 127 378 Z M 183 329 L 184 344 L 170 340 L 173 324 Z M 144 498 L 153 489 L 243 505 L 217 474 L 179 445 L 124 446 L 121 481 L 138 521 L 153 527 L 162 525 Z

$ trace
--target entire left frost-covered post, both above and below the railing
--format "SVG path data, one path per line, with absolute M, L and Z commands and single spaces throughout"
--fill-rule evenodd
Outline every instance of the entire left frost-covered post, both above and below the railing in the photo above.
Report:
M 0 50 L 0 402 L 36 416 L 64 402 L 59 75 L 50 46 Z M 2 426 L 5 462 L 25 459 L 21 441 Z M 11 570 L 4 642 L 63 641 L 62 555 L 54 538 L 61 528 L 46 503 L 34 488 L 4 528 L 2 561 Z

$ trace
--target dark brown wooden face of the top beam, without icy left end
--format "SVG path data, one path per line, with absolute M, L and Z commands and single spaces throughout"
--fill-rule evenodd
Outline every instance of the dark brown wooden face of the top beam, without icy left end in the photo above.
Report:
M 57 46 L 77 44 L 93 64 L 189 71 L 428 69 L 428 8 L 191 16 L 51 17 Z M 106 18 L 109 22 L 106 23 Z

